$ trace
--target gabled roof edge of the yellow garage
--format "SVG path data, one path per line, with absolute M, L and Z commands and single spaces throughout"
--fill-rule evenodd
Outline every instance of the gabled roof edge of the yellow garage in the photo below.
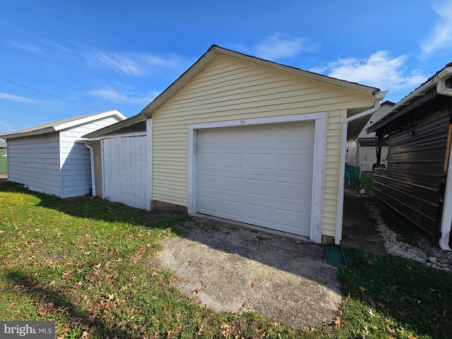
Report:
M 277 69 L 279 71 L 284 71 L 291 73 L 295 76 L 302 76 L 303 78 L 309 78 L 314 81 L 319 81 L 321 83 L 327 83 L 329 85 L 338 86 L 340 88 L 347 88 L 349 90 L 355 90 L 359 93 L 366 93 L 369 95 L 374 95 L 379 92 L 379 88 L 374 88 L 366 85 L 360 85 L 359 83 L 352 83 L 350 81 L 340 80 L 337 78 L 331 78 L 329 76 L 323 76 L 318 73 L 304 71 L 302 69 L 296 69 L 292 66 L 286 66 L 283 64 L 278 64 L 273 61 L 268 61 L 264 59 L 259 59 L 257 57 L 251 57 L 250 55 L 242 54 L 239 52 L 234 52 L 230 49 L 225 49 L 218 47 L 213 44 L 208 51 L 203 54 L 201 58 L 198 59 L 188 70 L 186 70 L 182 76 L 179 76 L 174 83 L 169 85 L 169 87 L 164 90 L 159 96 L 157 96 L 148 106 L 146 106 L 140 114 L 147 117 L 151 117 L 153 112 L 160 107 L 166 100 L 172 97 L 177 90 L 182 88 L 186 83 L 188 83 L 192 78 L 194 78 L 198 73 L 200 73 L 218 54 L 224 54 L 230 57 L 241 59 L 244 61 L 253 62 L 254 64 L 260 64 L 262 66 L 267 66 L 272 69 Z M 359 112 L 356 112 L 359 113 Z

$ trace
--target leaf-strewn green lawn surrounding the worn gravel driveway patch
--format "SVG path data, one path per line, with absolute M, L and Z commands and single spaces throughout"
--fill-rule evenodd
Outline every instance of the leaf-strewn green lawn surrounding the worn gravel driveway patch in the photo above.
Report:
M 338 318 L 294 330 L 202 307 L 150 265 L 185 215 L 11 183 L 0 206 L 0 320 L 54 320 L 57 338 L 450 338 L 451 273 L 403 258 L 346 251 Z

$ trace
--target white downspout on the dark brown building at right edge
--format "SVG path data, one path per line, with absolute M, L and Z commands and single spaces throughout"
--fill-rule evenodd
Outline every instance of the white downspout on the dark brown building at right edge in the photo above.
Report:
M 452 67 L 446 67 L 436 74 L 438 83 L 436 83 L 436 92 L 441 95 L 452 97 L 452 88 L 448 88 L 446 81 L 452 76 Z M 445 206 L 452 206 L 452 148 L 448 155 L 448 167 L 446 177 L 446 190 L 444 192 L 443 215 L 441 216 L 441 238 L 439 239 L 439 247 L 443 251 L 451 251 L 449 239 L 451 237 L 452 228 L 452 209 Z

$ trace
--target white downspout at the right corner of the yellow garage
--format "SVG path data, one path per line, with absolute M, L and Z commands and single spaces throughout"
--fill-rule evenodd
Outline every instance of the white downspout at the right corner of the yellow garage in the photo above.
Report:
M 367 111 L 361 112 L 359 114 L 348 117 L 342 124 L 342 139 L 340 141 L 340 165 L 339 165 L 339 191 L 338 191 L 338 210 L 336 217 L 336 232 L 334 243 L 340 245 L 340 240 L 342 239 L 342 222 L 344 213 L 344 181 L 345 181 L 345 152 L 347 151 L 347 129 L 350 121 L 361 119 L 363 117 L 370 116 L 377 109 L 380 108 L 381 101 L 385 97 L 387 90 L 383 92 L 378 92 L 375 95 L 374 107 L 367 109 Z

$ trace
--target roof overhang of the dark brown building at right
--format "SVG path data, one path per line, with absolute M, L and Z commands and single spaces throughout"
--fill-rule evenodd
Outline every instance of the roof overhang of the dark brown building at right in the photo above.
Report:
M 437 71 L 434 76 L 427 79 L 422 85 L 413 90 L 410 94 L 400 100 L 393 108 L 383 114 L 379 119 L 374 121 L 368 128 L 368 132 L 374 132 L 381 127 L 390 124 L 403 114 L 410 112 L 412 107 L 410 105 L 422 105 L 422 103 L 432 100 L 433 97 L 441 95 L 440 92 L 452 92 L 451 83 L 448 83 L 448 87 L 444 87 L 444 81 L 446 78 L 450 78 L 452 74 L 452 62 L 448 63 L 442 69 Z M 447 80 L 447 79 L 446 79 Z M 440 86 L 442 86 L 440 88 Z M 451 95 L 449 93 L 448 95 Z

